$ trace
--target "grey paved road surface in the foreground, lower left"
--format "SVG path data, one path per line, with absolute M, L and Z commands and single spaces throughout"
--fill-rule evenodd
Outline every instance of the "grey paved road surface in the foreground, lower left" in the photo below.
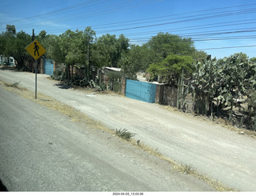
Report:
M 94 127 L 0 85 L 0 180 L 11 191 L 213 190 Z

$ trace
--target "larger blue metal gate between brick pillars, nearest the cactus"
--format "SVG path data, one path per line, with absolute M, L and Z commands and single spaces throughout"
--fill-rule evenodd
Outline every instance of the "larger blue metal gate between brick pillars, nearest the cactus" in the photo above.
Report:
M 154 102 L 156 84 L 126 80 L 126 97 L 134 98 L 142 102 Z

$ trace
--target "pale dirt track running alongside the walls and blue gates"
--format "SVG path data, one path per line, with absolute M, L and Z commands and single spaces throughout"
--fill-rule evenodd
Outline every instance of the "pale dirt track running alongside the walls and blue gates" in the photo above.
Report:
M 167 158 L 192 166 L 235 190 L 256 190 L 256 140 L 222 126 L 117 94 L 58 86 L 38 74 L 38 92 L 64 102 L 110 129 L 127 129 Z M 34 90 L 34 74 L 0 70 L 0 79 Z

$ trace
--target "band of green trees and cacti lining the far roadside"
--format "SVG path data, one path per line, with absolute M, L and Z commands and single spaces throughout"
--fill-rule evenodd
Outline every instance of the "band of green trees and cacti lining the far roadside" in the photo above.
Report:
M 45 58 L 62 65 L 56 68 L 54 79 L 107 90 L 95 77 L 104 66 L 122 68 L 118 74 L 108 74 L 111 82 L 136 79 L 138 71 L 145 72 L 150 81 L 178 88 L 179 110 L 187 111 L 186 98 L 191 96 L 193 114 L 256 130 L 256 58 L 246 54 L 211 58 L 196 50 L 191 38 L 161 32 L 142 46 L 131 45 L 123 34 L 96 37 L 91 27 L 59 35 L 42 30 L 35 39 L 46 48 Z M 7 25 L 0 34 L 0 54 L 14 57 L 18 70 L 32 71 L 34 60 L 24 50 L 31 41 L 30 34 Z M 74 74 L 74 68 L 80 74 Z

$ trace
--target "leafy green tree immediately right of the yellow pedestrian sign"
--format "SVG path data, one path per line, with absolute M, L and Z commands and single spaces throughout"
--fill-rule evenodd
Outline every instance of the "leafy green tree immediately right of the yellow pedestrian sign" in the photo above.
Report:
M 87 78 L 87 80 L 90 79 L 89 62 L 90 54 L 92 54 L 90 45 L 93 42 L 94 36 L 94 30 L 87 27 L 84 31 L 66 30 L 65 33 L 60 34 L 58 37 L 50 36 L 44 38 L 46 48 L 49 48 L 50 50 L 50 56 L 56 62 L 63 62 L 66 64 L 66 79 L 68 82 L 73 82 L 74 80 L 74 66 L 86 68 L 85 78 Z M 54 41 L 54 47 L 50 46 L 50 41 Z

